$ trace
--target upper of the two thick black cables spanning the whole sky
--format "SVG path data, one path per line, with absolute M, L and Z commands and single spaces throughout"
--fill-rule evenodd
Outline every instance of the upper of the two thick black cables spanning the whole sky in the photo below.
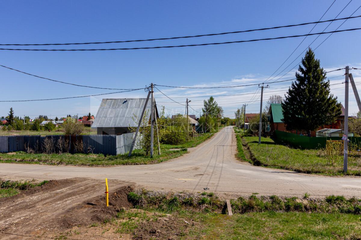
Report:
M 325 14 L 323 14 L 323 15 L 325 15 Z M 350 19 L 350 18 L 358 18 L 358 17 L 361 17 L 361 15 L 355 16 L 355 17 L 348 17 L 348 18 L 325 20 L 325 21 L 320 21 L 321 19 L 319 19 L 319 21 L 317 21 L 317 22 L 299 23 L 299 24 L 291 24 L 291 25 L 277 26 L 277 27 L 258 28 L 258 29 L 242 30 L 242 31 L 234 31 L 234 32 L 210 33 L 210 34 L 202 34 L 202 35 L 190 35 L 190 36 L 181 36 L 181 37 L 165 37 L 165 38 L 156 38 L 156 39 L 105 41 L 105 42 L 77 42 L 77 43 L 52 43 L 52 44 L 0 44 L 0 46 L 84 45 L 84 44 L 109 44 L 109 43 L 122 43 L 122 42 L 145 42 L 145 41 L 156 41 L 156 40 L 185 39 L 185 38 L 192 38 L 192 37 L 217 36 L 217 35 L 226 35 L 226 34 L 232 34 L 232 33 L 253 32 L 253 31 L 277 29 L 277 28 L 304 26 L 304 25 L 308 25 L 308 24 L 318 24 L 318 23 L 325 23 L 325 22 L 338 21 L 338 20 Z

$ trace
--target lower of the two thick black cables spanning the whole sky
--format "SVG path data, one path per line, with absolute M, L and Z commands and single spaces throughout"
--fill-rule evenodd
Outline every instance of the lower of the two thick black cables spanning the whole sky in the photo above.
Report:
M 331 32 L 318 32 L 318 33 L 309 33 L 309 34 L 303 34 L 303 35 L 271 37 L 271 38 L 266 38 L 266 39 L 252 39 L 252 40 L 241 40 L 241 41 L 231 41 L 231 42 L 213 42 L 213 43 L 204 43 L 204 44 L 188 44 L 188 45 L 157 46 L 157 47 L 130 47 L 130 48 L 108 48 L 108 49 L 12 49 L 12 48 L 0 48 L 0 50 L 15 50 L 15 51 L 109 51 L 109 50 L 137 50 L 137 49 L 173 48 L 173 47 L 193 47 L 193 46 L 220 45 L 220 44 L 231 44 L 231 43 L 241 43 L 241 42 L 257 42 L 257 41 L 266 41 L 266 40 L 274 40 L 274 39 L 287 39 L 287 38 L 293 38 L 293 37 L 321 35 L 321 34 L 335 33 L 335 32 L 355 31 L 355 30 L 360 30 L 360 29 L 361 28 L 351 28 L 351 29 L 331 31 Z

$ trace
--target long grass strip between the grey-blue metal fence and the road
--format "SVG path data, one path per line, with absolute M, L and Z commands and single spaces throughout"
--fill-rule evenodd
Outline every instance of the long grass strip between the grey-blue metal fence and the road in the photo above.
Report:
M 164 162 L 166 160 L 177 158 L 187 153 L 187 148 L 199 145 L 212 135 L 204 135 L 191 139 L 181 145 L 161 144 L 161 155 L 155 154 L 153 158 L 145 155 L 142 149 L 136 149 L 132 155 L 128 157 L 123 155 L 104 155 L 104 154 L 44 154 L 44 153 L 0 153 L 0 163 L 34 163 L 34 164 L 68 164 L 68 165 L 86 165 L 86 166 L 111 166 L 111 165 L 139 165 L 154 164 Z M 170 150 L 179 149 L 179 150 Z

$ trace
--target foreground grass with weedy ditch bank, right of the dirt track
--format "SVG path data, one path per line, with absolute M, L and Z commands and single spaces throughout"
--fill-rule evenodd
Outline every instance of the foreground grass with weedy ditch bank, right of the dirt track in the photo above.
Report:
M 156 218 L 147 214 L 167 214 L 184 221 L 189 227 L 179 229 L 184 237 L 177 239 L 360 239 L 360 199 L 328 196 L 325 199 L 304 200 L 297 197 L 251 195 L 231 200 L 234 215 L 221 214 L 224 200 L 217 196 L 160 194 L 152 191 L 131 192 L 128 195 L 141 213 L 118 213 L 126 221 Z M 357 210 L 355 210 L 357 209 Z M 127 211 L 127 210 L 125 210 Z M 138 217 L 142 216 L 142 217 Z M 134 220 L 133 220 L 134 221 Z M 162 223 L 164 224 L 164 223 Z M 129 225 L 134 233 L 139 222 Z M 175 225 L 178 227 L 178 225 Z M 182 235 L 183 236 L 183 235 Z M 163 238 L 159 238 L 163 239 Z

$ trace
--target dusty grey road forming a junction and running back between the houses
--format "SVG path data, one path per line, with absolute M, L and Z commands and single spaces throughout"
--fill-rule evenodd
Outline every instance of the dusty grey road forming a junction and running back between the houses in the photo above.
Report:
M 226 127 L 210 140 L 190 149 L 190 153 L 159 164 L 75 167 L 2 163 L 0 176 L 47 180 L 108 177 L 147 189 L 203 191 L 208 187 L 209 191 L 228 194 L 302 195 L 308 192 L 312 196 L 361 197 L 360 177 L 323 177 L 256 167 L 239 162 L 235 154 L 234 131 L 232 127 Z

